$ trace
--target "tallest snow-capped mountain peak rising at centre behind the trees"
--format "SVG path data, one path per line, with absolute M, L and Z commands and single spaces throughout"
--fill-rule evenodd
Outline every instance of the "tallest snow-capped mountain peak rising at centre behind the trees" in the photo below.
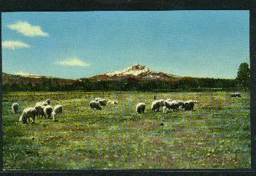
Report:
M 146 79 L 146 80 L 165 80 L 173 77 L 179 77 L 176 75 L 171 75 L 165 72 L 156 72 L 150 70 L 146 66 L 142 66 L 140 64 L 135 64 L 131 67 L 126 68 L 125 70 L 106 72 L 102 75 L 94 76 L 98 80 L 112 80 L 114 78 L 136 78 L 136 79 Z

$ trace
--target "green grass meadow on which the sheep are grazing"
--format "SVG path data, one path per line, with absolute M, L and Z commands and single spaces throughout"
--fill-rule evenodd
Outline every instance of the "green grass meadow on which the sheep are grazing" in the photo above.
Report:
M 157 93 L 157 99 L 196 98 L 191 112 L 153 113 L 152 93 L 16 92 L 3 95 L 4 169 L 249 168 L 249 93 Z M 96 97 L 117 100 L 90 110 Z M 59 122 L 18 122 L 22 109 L 51 99 L 62 104 Z M 12 114 L 12 103 L 20 112 Z M 146 103 L 146 112 L 135 106 Z

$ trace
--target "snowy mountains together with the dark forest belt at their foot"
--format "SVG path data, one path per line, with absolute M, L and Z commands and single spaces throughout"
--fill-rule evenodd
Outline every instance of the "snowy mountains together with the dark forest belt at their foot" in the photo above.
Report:
M 93 77 L 63 79 L 27 72 L 2 73 L 4 91 L 221 91 L 236 88 L 234 79 L 181 77 L 135 64 Z M 207 88 L 207 89 L 205 89 Z M 218 89 L 216 89 L 218 88 Z

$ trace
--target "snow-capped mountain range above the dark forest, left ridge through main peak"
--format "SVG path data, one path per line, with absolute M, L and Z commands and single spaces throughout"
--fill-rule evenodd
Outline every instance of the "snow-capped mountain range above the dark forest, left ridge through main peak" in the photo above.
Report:
M 146 66 L 140 64 L 132 65 L 124 70 L 106 72 L 101 75 L 94 77 L 82 77 L 80 79 L 63 79 L 58 77 L 46 77 L 42 75 L 36 75 L 29 72 L 16 72 L 16 73 L 3 73 L 4 83 L 40 83 L 46 80 L 60 80 L 63 83 L 65 80 L 68 82 L 78 81 L 83 82 L 84 80 L 99 80 L 99 81 L 123 81 L 123 80 L 182 80 L 185 77 L 172 75 L 165 72 L 157 72 L 150 70 Z

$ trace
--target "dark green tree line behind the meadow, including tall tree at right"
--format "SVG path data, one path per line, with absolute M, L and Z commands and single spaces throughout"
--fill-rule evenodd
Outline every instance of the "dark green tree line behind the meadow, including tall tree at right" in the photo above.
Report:
M 84 79 L 74 83 L 44 80 L 41 83 L 4 84 L 7 91 L 236 91 L 249 90 L 249 65 L 240 65 L 236 79 L 184 77 L 181 80 L 98 81 Z

